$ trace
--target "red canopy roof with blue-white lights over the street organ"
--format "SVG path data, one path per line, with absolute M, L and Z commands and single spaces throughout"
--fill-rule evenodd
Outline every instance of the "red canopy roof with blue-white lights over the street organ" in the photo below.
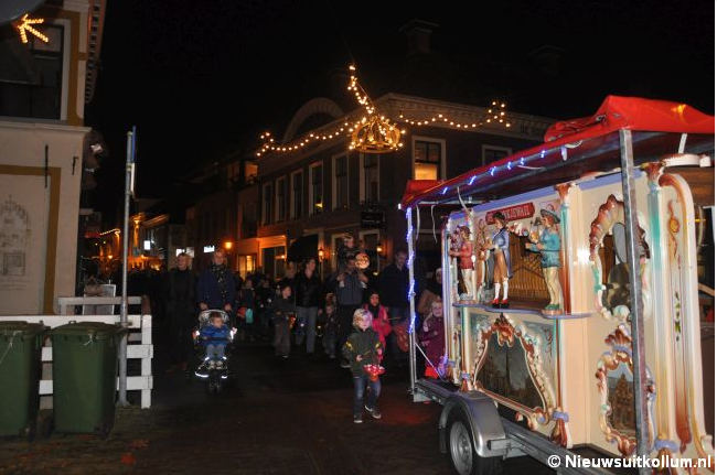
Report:
M 457 187 L 461 193 L 499 194 L 501 185 L 515 186 L 521 179 L 531 180 L 532 187 L 545 185 L 547 182 L 565 181 L 579 176 L 590 166 L 614 166 L 614 150 L 619 149 L 617 132 L 630 129 L 640 132 L 672 132 L 714 136 L 715 117 L 703 114 L 685 104 L 665 100 L 642 99 L 635 97 L 608 96 L 598 111 L 590 117 L 557 122 L 545 133 L 544 144 L 523 150 L 497 162 L 473 169 L 447 181 L 426 181 L 414 184 L 409 181 L 402 199 L 404 207 L 421 201 L 447 201 L 454 198 Z M 612 134 L 612 136 L 611 136 Z M 657 133 L 660 134 L 660 133 Z M 638 137 L 639 136 L 639 137 Z M 654 156 L 665 150 L 675 150 L 678 137 L 662 138 L 657 142 L 654 133 L 639 133 L 633 137 L 634 147 Z M 603 140 L 592 140 L 603 138 Z M 676 142 L 675 142 L 676 141 Z M 714 149 L 714 137 L 709 138 Z M 586 143 L 584 143 L 586 142 Z M 673 143 L 674 142 L 674 143 Z M 705 145 L 697 143 L 697 148 Z M 569 151 L 569 152 L 568 152 Z M 566 160 L 567 155 L 579 156 L 580 160 L 593 158 L 596 161 L 580 163 L 579 160 Z M 608 160 L 611 159 L 611 160 Z M 617 162 L 619 166 L 619 160 Z M 557 173 L 557 169 L 564 173 Z M 541 171 L 550 171 L 550 176 L 537 176 Z M 547 181 L 546 181 L 547 180 Z M 525 190 L 527 191 L 527 190 Z

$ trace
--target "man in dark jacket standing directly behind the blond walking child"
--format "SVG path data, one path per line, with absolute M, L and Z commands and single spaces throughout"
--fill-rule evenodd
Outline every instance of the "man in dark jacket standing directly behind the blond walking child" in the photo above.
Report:
M 345 269 L 340 270 L 329 282 L 336 298 L 339 314 L 339 348 L 343 348 L 346 338 L 353 331 L 353 313 L 361 307 L 363 290 L 368 278 L 356 268 L 356 259 L 350 256 Z M 343 368 L 349 368 L 349 361 L 342 361 Z

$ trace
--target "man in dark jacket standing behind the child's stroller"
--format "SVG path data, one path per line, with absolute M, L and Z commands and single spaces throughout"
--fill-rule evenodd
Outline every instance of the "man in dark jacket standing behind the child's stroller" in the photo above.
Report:
M 232 271 L 224 263 L 225 261 L 224 251 L 215 250 L 210 268 L 200 276 L 200 281 L 196 284 L 196 299 L 201 310 L 223 310 L 234 322 L 235 315 L 232 309 L 236 299 L 236 284 Z

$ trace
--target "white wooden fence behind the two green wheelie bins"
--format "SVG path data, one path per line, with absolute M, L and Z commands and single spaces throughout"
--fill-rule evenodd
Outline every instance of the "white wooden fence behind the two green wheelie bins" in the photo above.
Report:
M 129 304 L 140 303 L 139 296 L 128 298 Z M 61 315 L 13 315 L 0 316 L 0 321 L 24 321 L 29 323 L 43 323 L 54 328 L 69 322 L 101 322 L 110 325 L 119 323 L 119 315 L 68 315 L 69 309 L 75 305 L 119 305 L 119 296 L 77 296 L 60 298 Z M 152 345 L 152 315 L 128 315 L 129 335 L 127 338 L 127 359 L 141 359 L 140 376 L 127 377 L 128 391 L 141 391 L 141 407 L 149 408 L 152 403 L 152 357 L 154 347 Z M 47 341 L 42 348 L 42 363 L 52 363 L 52 346 Z M 44 376 L 43 371 L 43 376 Z M 119 380 L 117 381 L 119 388 Z M 40 380 L 40 395 L 52 395 L 52 379 Z

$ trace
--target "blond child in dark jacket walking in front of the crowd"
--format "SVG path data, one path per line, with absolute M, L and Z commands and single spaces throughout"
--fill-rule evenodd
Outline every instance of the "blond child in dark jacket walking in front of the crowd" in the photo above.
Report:
M 343 356 L 351 361 L 353 376 L 353 421 L 363 422 L 364 408 L 374 419 L 381 419 L 376 401 L 381 395 L 381 380 L 372 381 L 364 371 L 364 365 L 378 364 L 378 358 L 384 353 L 384 345 L 378 339 L 378 334 L 371 326 L 371 312 L 357 309 L 353 314 L 354 331 L 343 346 Z M 368 397 L 364 406 L 364 390 L 368 386 Z

